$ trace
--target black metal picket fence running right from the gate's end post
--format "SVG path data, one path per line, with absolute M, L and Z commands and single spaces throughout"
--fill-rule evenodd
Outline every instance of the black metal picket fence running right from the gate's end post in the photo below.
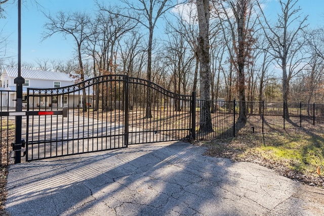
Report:
M 196 100 L 195 133 L 199 140 L 226 139 L 248 134 L 267 134 L 288 127 L 302 127 L 324 123 L 324 104 L 244 102 L 246 121 L 240 120 L 239 101 L 212 100 L 213 132 L 199 129 L 199 112 L 202 100 Z M 285 116 L 285 106 L 289 116 Z

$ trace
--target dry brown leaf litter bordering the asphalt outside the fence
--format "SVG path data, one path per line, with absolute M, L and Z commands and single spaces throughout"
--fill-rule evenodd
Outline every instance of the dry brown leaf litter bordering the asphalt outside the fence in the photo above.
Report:
M 305 128 L 293 128 L 290 129 L 289 133 L 292 134 L 292 131 L 294 131 L 294 133 L 301 133 L 301 130 L 305 133 L 309 133 L 309 131 Z M 318 127 L 316 127 L 315 132 L 312 131 L 311 133 L 315 134 L 316 132 L 318 132 Z M 320 132 L 324 133 L 323 131 Z M 317 135 L 318 134 L 316 133 L 316 136 Z M 279 134 L 277 137 L 280 139 Z M 287 165 L 287 163 L 285 163 L 284 160 L 275 160 L 274 158 L 266 157 L 260 154 L 260 152 L 253 150 L 253 147 L 255 146 L 276 145 L 274 142 L 275 141 L 271 140 L 271 138 L 267 138 L 266 135 L 251 135 L 226 140 L 213 140 L 205 144 L 196 142 L 195 144 L 208 146 L 209 148 L 205 153 L 206 155 L 229 158 L 234 162 L 246 161 L 257 163 L 259 165 L 268 167 L 277 172 L 277 174 L 292 180 L 311 186 L 324 187 L 324 178 L 322 176 L 293 170 Z

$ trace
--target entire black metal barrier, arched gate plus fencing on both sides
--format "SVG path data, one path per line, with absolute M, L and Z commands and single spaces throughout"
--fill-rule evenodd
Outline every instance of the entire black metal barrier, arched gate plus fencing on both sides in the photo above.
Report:
M 17 113 L 10 107 L 9 95 L 16 92 L 0 93 L 0 161 L 6 165 L 14 155 Z M 124 75 L 95 77 L 62 88 L 29 88 L 20 112 L 25 113 L 21 136 L 26 147 L 22 155 L 35 160 L 129 144 L 223 139 L 324 123 L 322 104 L 212 100 L 208 101 L 212 132 L 205 132 L 199 127 L 204 120 L 200 119 L 202 103 L 195 93 L 174 94 L 147 80 Z M 148 105 L 151 117 L 147 116 Z M 286 106 L 289 118 L 284 116 Z M 243 107 L 246 115 L 242 120 Z

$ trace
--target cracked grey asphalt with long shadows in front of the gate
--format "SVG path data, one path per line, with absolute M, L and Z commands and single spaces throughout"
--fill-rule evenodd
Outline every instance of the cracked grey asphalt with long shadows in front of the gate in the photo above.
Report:
M 9 166 L 12 215 L 323 215 L 324 190 L 156 143 Z

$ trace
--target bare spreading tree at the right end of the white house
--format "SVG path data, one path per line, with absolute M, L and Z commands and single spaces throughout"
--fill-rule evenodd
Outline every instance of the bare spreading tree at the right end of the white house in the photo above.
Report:
M 91 19 L 86 13 L 74 12 L 72 14 L 58 12 L 56 17 L 46 15 L 48 19 L 45 24 L 47 32 L 44 32 L 44 39 L 55 33 L 63 34 L 64 37 L 71 36 L 76 42 L 77 59 L 79 68 L 76 72 L 80 74 L 80 80 L 85 80 L 84 65 L 82 62 L 83 43 L 93 34 L 91 31 Z M 86 90 L 83 90 L 83 111 L 87 112 Z

